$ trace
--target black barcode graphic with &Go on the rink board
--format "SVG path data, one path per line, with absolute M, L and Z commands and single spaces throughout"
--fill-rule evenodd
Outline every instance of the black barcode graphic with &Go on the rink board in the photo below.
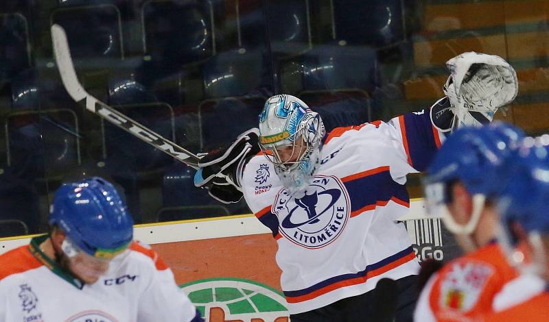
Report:
M 441 219 L 412 219 L 404 221 L 416 257 L 443 260 Z

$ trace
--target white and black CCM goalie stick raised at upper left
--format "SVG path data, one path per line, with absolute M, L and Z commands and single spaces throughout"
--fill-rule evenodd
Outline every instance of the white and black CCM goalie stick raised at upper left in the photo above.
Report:
M 51 26 L 51 40 L 54 42 L 54 55 L 56 57 L 63 86 L 65 86 L 65 89 L 69 92 L 69 95 L 74 101 L 85 106 L 86 110 L 89 110 L 93 114 L 97 114 L 103 119 L 106 119 L 106 121 L 109 121 L 133 136 L 136 136 L 139 140 L 152 145 L 156 149 L 164 151 L 166 154 L 192 166 L 194 169 L 198 169 L 198 161 L 200 158 L 196 156 L 196 154 L 163 138 L 160 134 L 137 123 L 128 116 L 108 106 L 106 103 L 91 96 L 89 92 L 86 92 L 82 84 L 78 81 L 78 77 L 76 77 L 71 51 L 69 50 L 69 43 L 67 42 L 67 34 L 65 34 L 65 29 L 63 29 L 63 27 L 57 24 Z

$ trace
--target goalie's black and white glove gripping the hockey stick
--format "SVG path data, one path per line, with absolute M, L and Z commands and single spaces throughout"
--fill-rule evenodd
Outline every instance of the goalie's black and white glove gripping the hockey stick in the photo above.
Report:
M 240 134 L 229 147 L 210 151 L 200 159 L 194 185 L 208 188 L 208 193 L 222 203 L 242 199 L 240 178 L 246 162 L 259 153 L 259 129 Z

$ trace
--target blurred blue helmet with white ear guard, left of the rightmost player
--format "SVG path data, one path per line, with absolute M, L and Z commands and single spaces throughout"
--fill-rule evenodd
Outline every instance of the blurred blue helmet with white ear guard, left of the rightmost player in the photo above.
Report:
M 484 201 L 506 179 L 501 168 L 517 149 L 524 133 L 508 123 L 494 122 L 484 127 L 463 127 L 449 136 L 423 179 L 425 201 L 430 213 L 441 212 L 445 225 L 454 234 L 471 234 L 476 228 Z M 458 225 L 449 214 L 450 186 L 463 183 L 473 197 L 474 210 L 466 225 Z

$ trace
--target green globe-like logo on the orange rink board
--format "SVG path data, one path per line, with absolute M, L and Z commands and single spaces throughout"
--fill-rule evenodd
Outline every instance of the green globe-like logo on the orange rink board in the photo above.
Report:
M 288 322 L 285 298 L 258 282 L 212 278 L 180 286 L 210 322 Z

